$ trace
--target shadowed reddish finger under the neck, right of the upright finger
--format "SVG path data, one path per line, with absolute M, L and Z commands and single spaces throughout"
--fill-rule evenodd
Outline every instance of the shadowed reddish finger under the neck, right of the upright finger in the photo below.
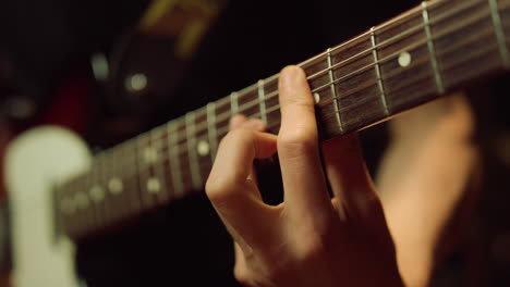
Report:
M 366 170 L 356 135 L 323 145 L 326 172 L 343 219 L 386 230 L 379 198 Z

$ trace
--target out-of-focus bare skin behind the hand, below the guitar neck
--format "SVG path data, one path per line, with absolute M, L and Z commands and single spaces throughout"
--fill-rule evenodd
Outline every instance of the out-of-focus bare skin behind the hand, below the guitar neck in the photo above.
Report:
M 399 269 L 408 286 L 427 286 L 439 235 L 469 188 L 476 188 L 473 114 L 452 95 L 391 122 L 377 176 Z

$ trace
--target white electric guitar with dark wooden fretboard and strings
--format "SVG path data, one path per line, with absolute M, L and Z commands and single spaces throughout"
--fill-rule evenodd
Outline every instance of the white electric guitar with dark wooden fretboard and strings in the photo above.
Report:
M 300 64 L 321 140 L 386 121 L 510 68 L 510 0 L 435 0 Z M 202 190 L 228 121 L 278 133 L 278 75 L 90 157 L 71 132 L 40 127 L 5 158 L 15 286 L 77 286 L 73 240 Z

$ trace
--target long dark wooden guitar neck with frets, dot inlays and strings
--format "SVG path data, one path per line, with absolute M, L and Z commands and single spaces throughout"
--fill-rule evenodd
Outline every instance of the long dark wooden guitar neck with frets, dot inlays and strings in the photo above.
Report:
M 510 67 L 510 0 L 424 2 L 300 64 L 321 140 L 366 128 Z M 229 118 L 278 133 L 278 75 L 96 157 L 54 190 L 59 234 L 78 238 L 202 190 Z

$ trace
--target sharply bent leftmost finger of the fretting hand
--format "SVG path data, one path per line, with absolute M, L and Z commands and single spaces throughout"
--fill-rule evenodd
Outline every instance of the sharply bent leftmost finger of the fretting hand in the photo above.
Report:
M 221 141 L 206 183 L 206 194 L 236 241 L 255 248 L 268 237 L 272 208 L 259 199 L 257 186 L 247 177 L 254 159 L 276 151 L 276 137 L 239 128 Z M 241 240 L 242 239 L 242 240 Z

